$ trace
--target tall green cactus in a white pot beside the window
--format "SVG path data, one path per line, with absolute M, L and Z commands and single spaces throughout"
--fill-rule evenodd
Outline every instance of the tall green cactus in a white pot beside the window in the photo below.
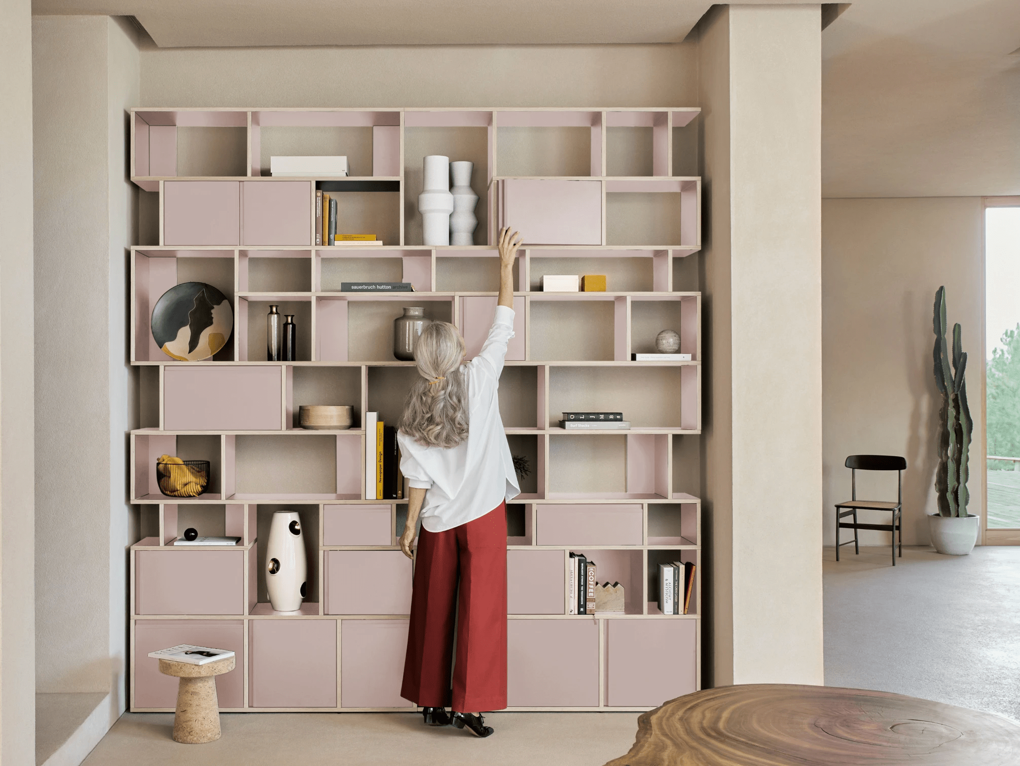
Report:
M 928 515 L 931 544 L 939 554 L 965 556 L 977 541 L 978 518 L 967 513 L 967 460 L 974 422 L 967 406 L 967 354 L 963 352 L 960 324 L 953 326 L 953 356 L 946 340 L 946 287 L 935 293 L 935 384 L 942 395 L 938 411 L 938 469 L 935 491 L 938 513 Z

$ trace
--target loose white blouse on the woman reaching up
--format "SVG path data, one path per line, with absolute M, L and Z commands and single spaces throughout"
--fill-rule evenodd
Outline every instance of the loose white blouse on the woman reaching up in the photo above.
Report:
M 460 371 L 467 380 L 467 438 L 455 447 L 423 446 L 398 431 L 400 468 L 408 483 L 427 489 L 421 526 L 442 532 L 481 518 L 520 494 L 500 418 L 499 385 L 507 342 L 514 336 L 513 308 L 496 306 L 481 351 Z

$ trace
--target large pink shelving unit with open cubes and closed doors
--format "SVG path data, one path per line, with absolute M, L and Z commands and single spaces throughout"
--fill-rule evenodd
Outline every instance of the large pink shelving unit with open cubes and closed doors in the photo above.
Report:
M 452 322 L 467 356 L 478 352 L 496 305 L 500 225 L 527 237 L 499 390 L 511 451 L 531 469 L 508 507 L 510 708 L 648 710 L 700 687 L 701 500 L 690 492 L 702 296 L 684 259 L 701 248 L 701 179 L 674 173 L 690 165 L 677 138 L 699 111 L 132 113 L 132 180 L 159 210 L 154 240 L 131 253 L 144 426 L 129 456 L 130 500 L 142 509 L 131 552 L 132 710 L 172 710 L 175 687 L 146 655 L 181 642 L 238 653 L 237 670 L 217 677 L 223 710 L 413 709 L 400 697 L 413 576 L 396 545 L 406 506 L 366 499 L 363 418 L 397 422 L 417 375 L 391 353 L 403 307 Z M 269 156 L 287 153 L 346 153 L 352 175 L 269 176 Z M 421 159 L 437 153 L 475 164 L 470 246 L 421 242 Z M 316 246 L 316 189 L 338 199 L 345 232 L 384 245 Z M 556 274 L 605 275 L 608 290 L 544 292 L 543 277 Z M 230 341 L 205 362 L 169 358 L 150 332 L 155 302 L 189 281 L 214 285 L 234 307 Z M 358 281 L 410 282 L 415 292 L 342 291 Z M 294 362 L 266 361 L 269 303 L 296 317 Z M 691 361 L 631 362 L 663 329 L 679 333 Z M 302 404 L 350 404 L 353 426 L 302 430 Z M 623 411 L 631 428 L 565 431 L 564 411 Z M 163 453 L 208 460 L 206 491 L 162 495 Z M 293 614 L 274 612 L 265 589 L 268 523 L 285 509 L 302 515 L 309 565 Z M 174 547 L 188 527 L 241 542 Z M 570 552 L 596 563 L 600 582 L 624 586 L 623 614 L 567 614 Z M 658 564 L 671 561 L 696 565 L 686 615 L 656 607 Z

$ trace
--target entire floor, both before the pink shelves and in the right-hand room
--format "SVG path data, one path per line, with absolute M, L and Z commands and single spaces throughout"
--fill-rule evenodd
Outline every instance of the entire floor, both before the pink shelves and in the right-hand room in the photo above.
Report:
M 825 682 L 895 691 L 1020 720 L 1020 547 L 966 557 L 824 550 Z M 477 739 L 411 714 L 223 714 L 223 737 L 170 738 L 173 716 L 126 714 L 86 766 L 300 762 L 601 766 L 633 744 L 636 713 L 494 713 Z

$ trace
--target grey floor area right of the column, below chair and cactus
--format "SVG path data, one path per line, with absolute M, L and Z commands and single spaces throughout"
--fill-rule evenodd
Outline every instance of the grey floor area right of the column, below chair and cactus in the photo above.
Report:
M 1020 721 L 1020 547 L 825 548 L 825 685 Z

